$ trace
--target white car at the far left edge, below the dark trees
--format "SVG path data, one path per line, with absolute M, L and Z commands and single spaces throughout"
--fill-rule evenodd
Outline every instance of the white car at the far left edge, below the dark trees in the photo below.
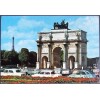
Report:
M 24 76 L 25 74 L 21 72 L 20 69 L 11 68 L 11 69 L 4 69 L 1 73 L 1 76 Z

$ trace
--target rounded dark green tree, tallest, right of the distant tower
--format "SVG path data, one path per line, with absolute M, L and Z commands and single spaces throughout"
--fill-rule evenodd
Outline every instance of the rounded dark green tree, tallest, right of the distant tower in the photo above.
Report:
M 27 48 L 22 48 L 18 58 L 22 65 L 27 65 L 29 60 L 29 50 Z

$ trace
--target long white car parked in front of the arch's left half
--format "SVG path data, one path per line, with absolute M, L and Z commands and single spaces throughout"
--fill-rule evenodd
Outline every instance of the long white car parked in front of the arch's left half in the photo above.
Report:
M 61 74 L 55 74 L 53 70 L 41 70 L 39 73 L 37 74 L 33 74 L 31 75 L 32 77 L 58 77 L 61 76 Z

